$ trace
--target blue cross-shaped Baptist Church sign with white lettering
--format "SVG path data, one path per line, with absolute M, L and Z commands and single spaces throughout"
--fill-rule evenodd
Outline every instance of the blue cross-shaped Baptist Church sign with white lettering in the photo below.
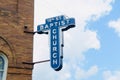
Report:
M 50 35 L 50 64 L 59 71 L 62 69 L 62 31 L 75 27 L 74 18 L 66 18 L 64 15 L 48 18 L 45 24 L 37 26 L 38 33 L 48 32 Z

